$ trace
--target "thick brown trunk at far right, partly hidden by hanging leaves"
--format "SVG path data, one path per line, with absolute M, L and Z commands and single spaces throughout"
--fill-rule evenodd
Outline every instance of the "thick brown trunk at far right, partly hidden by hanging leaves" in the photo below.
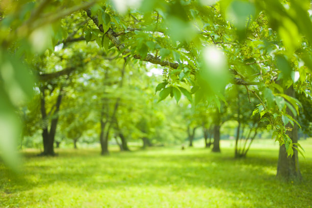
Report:
M 285 94 L 295 97 L 295 90 L 293 86 L 285 91 Z M 287 113 L 294 117 L 292 112 L 287 109 Z M 288 136 L 292 139 L 293 143 L 298 142 L 298 128 L 296 123 L 294 127 L 288 123 L 286 127 L 293 128 L 292 131 L 288 131 Z M 287 157 L 287 152 L 285 145 L 279 147 L 279 155 L 278 155 L 278 164 L 277 164 L 277 178 L 281 178 L 287 181 L 300 181 L 302 179 L 300 169 L 299 169 L 299 160 L 298 160 L 298 151 L 293 148 L 294 154 L 293 157 Z

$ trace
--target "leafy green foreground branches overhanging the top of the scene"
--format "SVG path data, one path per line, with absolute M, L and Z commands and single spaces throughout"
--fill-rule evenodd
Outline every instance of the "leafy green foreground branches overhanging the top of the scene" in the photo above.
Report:
M 285 144 L 289 155 L 294 154 L 297 147 L 288 139 L 286 124 L 280 120 L 285 121 L 287 117 L 295 122 L 285 109 L 298 113 L 300 102 L 284 94 L 282 88 L 293 85 L 297 91 L 310 93 L 309 1 L 233 0 L 208 5 L 205 1 L 146 0 L 139 8 L 125 11 L 109 3 L 79 3 L 43 1 L 24 5 L 12 2 L 10 7 L 2 8 L 2 54 L 9 51 L 13 60 L 31 62 L 34 54 L 42 55 L 47 48 L 52 54 L 54 46 L 65 44 L 68 38 L 84 38 L 87 43 L 95 40 L 100 48 L 122 54 L 127 62 L 140 60 L 163 66 L 166 79 L 157 88 L 161 100 L 170 94 L 178 101 L 183 94 L 193 101 L 195 94 L 196 103 L 210 99 L 219 111 L 226 86 L 229 83 L 244 85 L 247 94 L 256 97 L 263 106 L 255 113 L 263 115 L 263 121 L 273 129 L 280 144 Z M 85 12 L 76 12 L 80 9 Z M 77 19 L 84 19 L 86 23 L 79 32 L 67 37 L 72 29 L 61 22 Z M 49 41 L 51 37 L 53 41 Z M 43 44 L 37 44 L 38 38 Z M 9 63 L 14 71 L 29 74 L 25 67 Z M 7 62 L 1 61 L 1 64 Z M 29 92 L 19 89 L 31 94 L 33 81 L 2 78 L 6 86 L 11 81 L 16 81 L 18 86 L 28 86 Z M 1 92 L 5 100 L 14 109 L 16 100 L 4 89 L 1 88 Z M 218 115 L 214 123 L 217 124 L 214 147 L 218 149 Z

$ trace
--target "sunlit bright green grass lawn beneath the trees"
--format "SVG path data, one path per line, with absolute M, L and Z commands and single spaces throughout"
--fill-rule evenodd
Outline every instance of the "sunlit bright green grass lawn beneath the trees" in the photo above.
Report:
M 199 143 L 198 143 L 199 144 Z M 18 175 L 0 163 L 0 207 L 311 207 L 312 139 L 302 141 L 303 183 L 275 179 L 278 146 L 255 141 L 247 159 L 200 147 L 113 152 L 60 149 L 58 157 L 26 151 Z

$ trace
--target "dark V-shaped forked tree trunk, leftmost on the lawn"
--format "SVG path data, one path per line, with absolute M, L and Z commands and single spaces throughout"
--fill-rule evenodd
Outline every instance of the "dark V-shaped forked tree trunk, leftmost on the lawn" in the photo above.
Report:
M 41 89 L 41 116 L 42 120 L 44 122 L 44 127 L 42 128 L 42 139 L 43 139 L 43 152 L 41 155 L 55 155 L 54 152 L 54 140 L 55 140 L 55 134 L 56 134 L 56 129 L 57 129 L 57 124 L 59 120 L 59 116 L 57 115 L 60 106 L 61 106 L 61 101 L 62 101 L 62 88 L 60 89 L 57 102 L 56 102 L 56 110 L 53 113 L 53 119 L 51 120 L 50 124 L 50 131 L 48 131 L 48 118 L 46 114 L 46 109 L 45 109 L 45 93 L 44 93 L 44 88 Z M 53 111 L 53 109 L 51 109 Z

